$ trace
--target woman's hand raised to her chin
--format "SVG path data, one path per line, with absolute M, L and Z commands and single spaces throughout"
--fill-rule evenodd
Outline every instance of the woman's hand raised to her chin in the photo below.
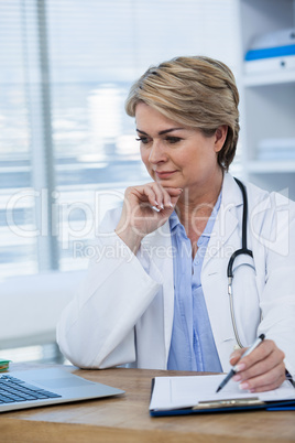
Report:
M 160 228 L 174 210 L 183 190 L 152 182 L 125 190 L 117 235 L 136 253 L 148 234 Z

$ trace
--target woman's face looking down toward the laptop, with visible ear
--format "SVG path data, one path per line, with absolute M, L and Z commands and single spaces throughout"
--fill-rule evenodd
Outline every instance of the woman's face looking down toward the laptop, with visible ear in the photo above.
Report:
M 227 127 L 205 137 L 143 102 L 136 105 L 135 121 L 142 161 L 163 187 L 206 190 L 220 180 L 217 152 L 225 143 Z

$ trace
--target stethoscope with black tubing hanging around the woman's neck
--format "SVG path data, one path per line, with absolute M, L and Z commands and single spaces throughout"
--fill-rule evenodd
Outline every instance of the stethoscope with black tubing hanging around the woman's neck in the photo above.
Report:
M 244 185 L 238 180 L 236 179 L 236 182 L 238 183 L 242 196 L 243 196 L 243 216 L 242 216 L 242 247 L 241 249 L 238 249 L 237 251 L 234 251 L 232 253 L 232 256 L 229 259 L 229 263 L 228 263 L 228 294 L 229 294 L 229 304 L 230 304 L 230 314 L 231 314 L 231 322 L 232 322 L 232 327 L 233 327 L 233 332 L 234 332 L 234 336 L 237 339 L 237 344 L 239 345 L 240 348 L 243 347 L 240 337 L 239 337 L 239 333 L 238 333 L 238 327 L 237 327 L 237 323 L 236 323 L 236 316 L 234 316 L 234 309 L 233 309 L 233 298 L 232 298 L 232 280 L 233 280 L 233 272 L 232 272 L 232 267 L 233 267 L 233 262 L 236 260 L 236 258 L 238 256 L 242 256 L 242 255 L 247 255 L 253 258 L 253 252 L 247 248 L 247 218 L 248 218 L 248 197 L 247 197 L 247 191 Z

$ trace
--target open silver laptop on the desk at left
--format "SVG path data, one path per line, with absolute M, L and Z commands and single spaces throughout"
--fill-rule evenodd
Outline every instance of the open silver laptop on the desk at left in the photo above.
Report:
M 121 389 L 85 380 L 73 368 L 0 372 L 0 412 L 118 396 Z

